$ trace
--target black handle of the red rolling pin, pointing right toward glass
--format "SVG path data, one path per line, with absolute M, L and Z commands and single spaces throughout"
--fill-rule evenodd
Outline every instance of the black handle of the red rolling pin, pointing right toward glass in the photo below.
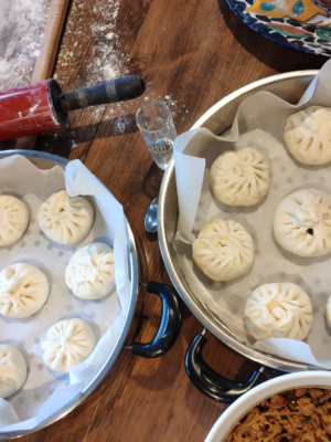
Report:
M 146 85 L 137 75 L 109 80 L 82 90 L 68 91 L 60 96 L 62 110 L 77 110 L 88 106 L 125 102 L 143 94 Z

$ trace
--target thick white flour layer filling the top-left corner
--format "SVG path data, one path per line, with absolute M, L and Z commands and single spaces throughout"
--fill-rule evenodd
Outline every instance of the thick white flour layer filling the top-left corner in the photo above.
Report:
M 28 84 L 51 0 L 0 0 L 0 90 Z

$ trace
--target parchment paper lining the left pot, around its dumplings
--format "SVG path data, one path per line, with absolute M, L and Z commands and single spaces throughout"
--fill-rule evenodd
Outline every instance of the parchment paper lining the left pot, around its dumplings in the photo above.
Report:
M 61 245 L 47 239 L 39 228 L 41 203 L 65 189 L 71 196 L 88 196 L 95 210 L 89 234 L 78 244 Z M 120 203 L 79 161 L 64 170 L 56 166 L 40 170 L 22 156 L 0 160 L 1 193 L 20 198 L 28 207 L 30 223 L 20 241 L 0 248 L 1 269 L 26 262 L 41 269 L 51 284 L 43 308 L 25 319 L 0 316 L 0 343 L 19 348 L 26 361 L 28 380 L 8 400 L 0 399 L 0 432 L 29 430 L 40 424 L 78 394 L 96 376 L 119 337 L 130 296 L 128 240 Z M 90 242 L 114 246 L 116 290 L 98 301 L 73 295 L 65 284 L 65 267 L 73 253 Z M 61 319 L 78 317 L 93 328 L 97 346 L 70 375 L 49 369 L 42 357 L 42 343 L 49 328 Z

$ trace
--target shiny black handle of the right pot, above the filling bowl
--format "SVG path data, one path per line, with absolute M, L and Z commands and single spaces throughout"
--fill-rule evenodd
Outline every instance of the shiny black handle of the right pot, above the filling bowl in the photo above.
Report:
M 234 382 L 214 371 L 202 358 L 202 349 L 206 343 L 204 333 L 205 329 L 194 337 L 185 355 L 186 373 L 202 393 L 216 402 L 232 403 L 264 380 L 264 366 L 258 371 L 253 371 L 245 382 Z

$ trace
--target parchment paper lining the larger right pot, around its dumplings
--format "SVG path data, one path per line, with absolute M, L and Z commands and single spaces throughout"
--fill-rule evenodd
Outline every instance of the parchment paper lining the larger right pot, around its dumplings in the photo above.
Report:
M 331 368 L 331 329 L 324 319 L 331 293 L 331 256 L 307 259 L 281 249 L 274 240 L 271 221 L 279 202 L 300 189 L 317 189 L 331 194 L 331 166 L 306 166 L 291 157 L 282 133 L 287 118 L 311 105 L 331 107 L 331 61 L 327 62 L 298 105 L 267 92 L 246 98 L 231 131 L 223 137 L 201 128 L 180 135 L 174 141 L 179 222 L 174 248 L 192 292 L 225 323 L 238 340 L 267 354 Z M 331 124 L 331 122 L 330 122 Z M 254 147 L 270 168 L 270 189 L 256 206 L 224 206 L 213 196 L 209 173 L 213 161 L 226 150 Z M 214 282 L 192 259 L 192 242 L 211 220 L 233 219 L 253 236 L 255 262 L 242 277 Z M 250 293 L 265 283 L 291 282 L 311 298 L 313 325 L 306 343 L 268 339 L 256 343 L 244 323 L 244 307 Z

